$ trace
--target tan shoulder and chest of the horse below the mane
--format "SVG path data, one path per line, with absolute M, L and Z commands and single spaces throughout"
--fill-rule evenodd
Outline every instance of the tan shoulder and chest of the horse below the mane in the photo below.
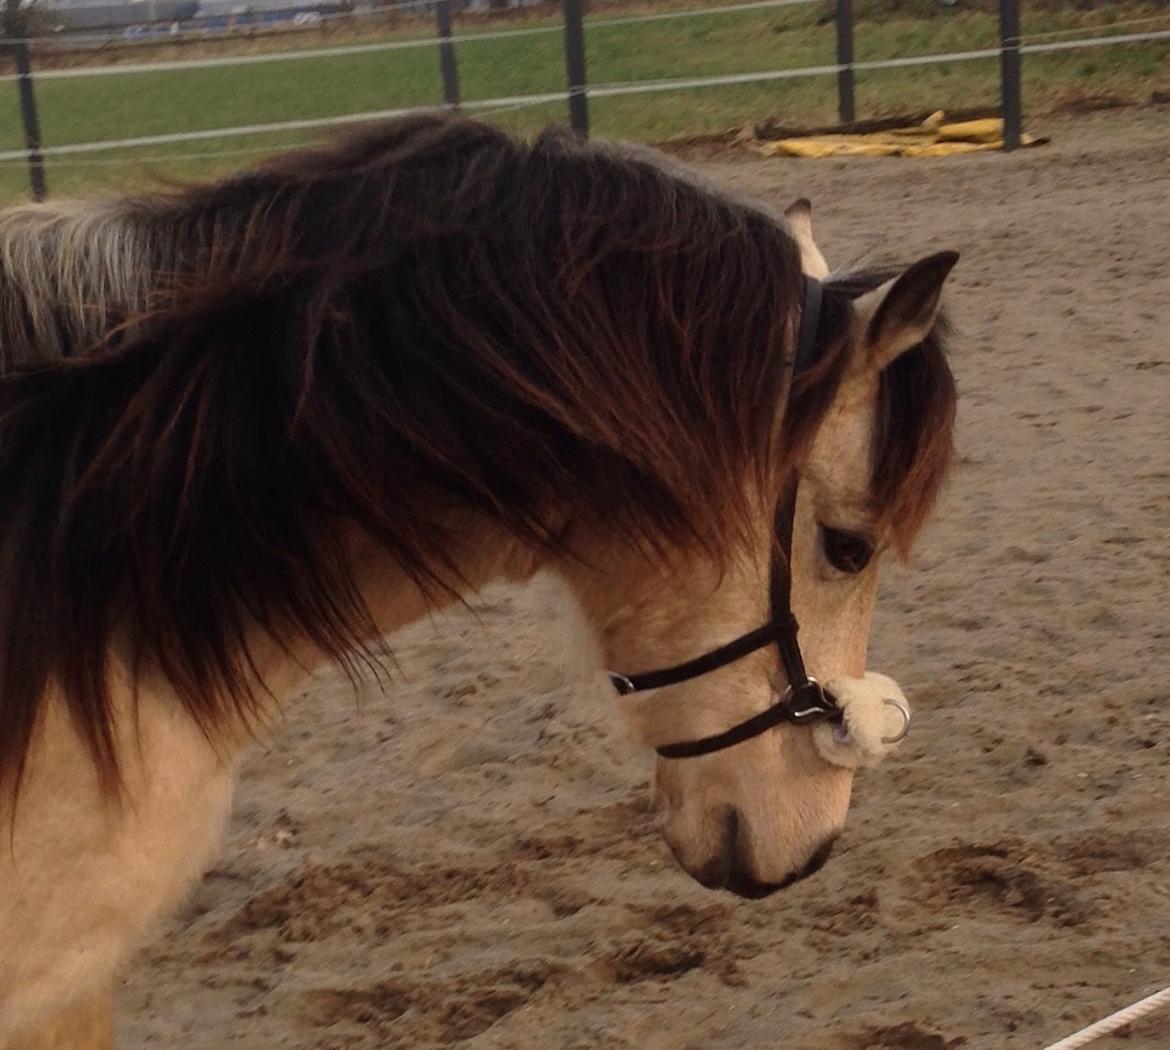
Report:
M 103 797 L 57 698 L 47 698 L 15 814 L 0 807 L 0 1046 L 99 1003 L 118 966 L 211 862 L 234 756 L 170 699 L 116 695 L 121 799 Z M 238 750 L 238 749 L 234 749 Z M 87 1022 L 89 1023 L 89 1022 Z M 48 1045 L 48 1044 L 46 1044 Z M 56 1045 L 54 1043 L 53 1045 Z M 71 1045 L 71 1044 L 67 1044 Z

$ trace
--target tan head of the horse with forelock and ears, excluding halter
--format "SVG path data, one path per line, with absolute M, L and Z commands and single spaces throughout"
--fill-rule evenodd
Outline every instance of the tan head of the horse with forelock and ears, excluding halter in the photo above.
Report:
M 789 557 L 799 647 L 832 693 L 834 682 L 866 671 L 881 553 L 908 551 L 947 469 L 955 391 L 942 355 L 940 297 L 957 256 L 932 255 L 890 274 L 833 276 L 812 238 L 807 201 L 787 217 L 805 273 L 826 279 L 820 335 L 846 356 L 799 464 Z M 686 661 L 775 615 L 769 593 L 779 499 L 775 488 L 765 492 L 755 528 L 718 563 L 676 554 L 661 571 L 647 572 L 638 558 L 620 567 L 610 561 L 604 585 L 593 576 L 579 586 L 597 611 L 607 666 Z M 574 578 L 579 584 L 581 574 Z M 649 747 L 701 740 L 769 709 L 783 674 L 776 651 L 760 648 L 626 696 L 622 708 Z M 813 730 L 782 726 L 713 754 L 659 757 L 656 803 L 680 865 L 706 886 L 746 897 L 819 869 L 844 826 L 853 781 L 853 769 L 825 752 Z

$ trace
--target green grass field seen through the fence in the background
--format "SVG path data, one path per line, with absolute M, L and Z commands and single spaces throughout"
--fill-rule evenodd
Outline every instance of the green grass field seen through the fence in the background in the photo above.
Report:
M 717 2 L 717 0 L 716 0 Z M 992 47 L 996 18 L 990 5 L 975 9 L 895 4 L 858 5 L 859 60 L 961 52 Z M 694 5 L 693 5 L 694 6 Z M 1025 0 L 1024 35 L 1076 27 L 1128 22 L 1133 28 L 1170 28 L 1170 6 L 1161 2 L 1048 4 L 1032 9 Z M 661 12 L 662 6 L 651 8 Z M 606 25 L 640 8 L 607 9 L 586 22 L 591 84 L 667 77 L 752 73 L 833 61 L 832 6 L 808 4 L 638 25 Z M 459 71 L 466 99 L 496 98 L 563 89 L 564 66 L 555 9 L 514 19 L 468 20 L 462 33 L 546 30 L 497 40 L 457 42 Z M 123 47 L 116 54 L 34 55 L 34 68 L 81 63 L 143 62 L 173 57 L 225 56 L 236 52 L 321 48 L 338 43 L 428 37 L 429 18 L 364 30 L 331 27 L 328 33 L 276 34 L 261 39 L 200 41 L 194 47 Z M 1126 44 L 1055 55 L 1027 56 L 1025 105 L 1039 115 L 1072 102 L 1109 97 L 1145 101 L 1151 90 L 1170 88 L 1170 42 Z M 22 143 L 16 91 L 0 91 L 0 149 Z M 376 54 L 266 62 L 254 66 L 119 76 L 69 76 L 36 81 L 36 97 L 47 145 L 121 139 L 173 131 L 225 128 L 287 119 L 307 119 L 366 110 L 434 104 L 441 96 L 438 60 L 431 46 Z M 861 73 L 859 116 L 880 116 L 924 108 L 994 104 L 994 60 L 949 62 L 909 69 Z M 591 118 L 598 133 L 663 140 L 723 131 L 748 121 L 779 116 L 792 123 L 823 123 L 835 115 L 832 77 L 776 81 L 735 87 L 697 88 L 661 94 L 596 98 Z M 489 116 L 514 128 L 535 128 L 564 119 L 564 105 L 542 104 L 494 111 Z M 158 177 L 191 178 L 247 163 L 252 151 L 278 149 L 319 137 L 319 131 L 218 138 L 193 144 L 145 146 L 50 160 L 50 193 L 76 193 L 143 184 Z M 248 151 L 248 152 L 245 152 Z M 211 155 L 211 156 L 208 156 Z M 0 162 L 0 197 L 27 192 L 20 162 Z

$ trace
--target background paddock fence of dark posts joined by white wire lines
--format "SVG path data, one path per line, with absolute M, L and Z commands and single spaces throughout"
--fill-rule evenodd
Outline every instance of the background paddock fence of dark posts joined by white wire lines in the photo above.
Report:
M 590 19 L 587 25 L 590 28 L 604 26 L 631 26 L 667 19 L 688 19 L 717 13 L 760 11 L 764 8 L 792 7 L 805 4 L 824 2 L 825 0 L 741 0 L 741 2 L 700 9 L 662 11 L 629 16 Z M 453 28 L 452 0 L 408 0 L 408 2 L 398 5 L 397 9 L 425 8 L 427 11 L 433 11 L 435 16 L 435 35 L 433 37 L 417 40 L 388 40 L 321 48 L 302 48 L 276 53 L 199 57 L 168 62 L 130 62 L 113 66 L 91 64 L 81 68 L 44 69 L 36 74 L 35 80 L 51 81 L 78 77 L 135 76 L 143 73 L 159 71 L 183 73 L 195 69 L 245 67 L 270 62 L 296 62 L 308 59 L 377 54 L 412 48 L 435 48 L 439 59 L 442 105 L 449 109 L 466 109 L 472 112 L 491 114 L 518 107 L 564 101 L 567 105 L 569 119 L 572 128 L 581 135 L 587 135 L 590 129 L 590 98 L 613 98 L 647 92 L 680 91 L 691 88 L 764 83 L 826 76 L 835 77 L 838 117 L 842 124 L 849 124 L 856 119 L 856 76 L 859 74 L 870 70 L 911 68 L 944 62 L 998 60 L 999 101 L 1005 129 L 1004 149 L 1014 150 L 1019 146 L 1021 136 L 1021 59 L 1024 55 L 1072 50 L 1078 48 L 1096 48 L 1121 43 L 1136 43 L 1142 41 L 1170 40 L 1170 29 L 1159 28 L 1136 33 L 1107 34 L 1068 40 L 1041 40 L 1037 37 L 1025 39 L 1020 35 L 1019 0 L 998 0 L 998 43 L 996 47 L 858 61 L 854 57 L 853 0 L 831 0 L 831 2 L 835 2 L 835 11 L 832 19 L 835 29 L 835 62 L 799 68 L 769 69 L 753 73 L 731 73 L 696 77 L 639 80 L 627 83 L 590 84 L 586 76 L 586 21 L 583 9 L 584 0 L 562 0 L 562 19 L 559 25 L 535 26 L 495 32 L 460 33 L 457 35 Z M 1155 16 L 1152 19 L 1138 19 L 1135 21 L 1148 23 L 1150 21 L 1157 21 L 1158 18 L 1168 16 Z M 562 91 L 474 99 L 463 99 L 461 97 L 456 44 L 461 42 L 505 40 L 549 33 L 559 33 L 563 36 L 565 87 Z M 1064 35 L 1064 33 L 1041 35 L 1060 36 Z M 418 109 L 418 107 L 412 107 L 376 111 L 366 110 L 338 116 L 290 119 L 264 124 L 242 124 L 235 126 L 201 129 L 195 131 L 177 131 L 161 135 L 137 136 L 131 138 L 110 138 L 96 142 L 74 142 L 60 145 L 44 145 L 42 143 L 34 91 L 32 53 L 29 49 L 30 43 L 44 41 L 8 41 L 7 48 L 14 59 L 15 71 L 12 74 L 0 75 L 0 81 L 13 82 L 19 92 L 20 116 L 25 138 L 25 147 L 21 150 L 0 150 L 0 162 L 11 163 L 14 160 L 27 160 L 32 195 L 36 200 L 42 199 L 47 193 L 47 179 L 44 171 L 46 158 L 92 155 L 111 150 L 124 150 L 142 146 L 165 146 L 180 143 L 222 140 L 273 131 L 319 129 L 331 125 L 336 126 L 366 122 L 381 117 L 397 116 Z

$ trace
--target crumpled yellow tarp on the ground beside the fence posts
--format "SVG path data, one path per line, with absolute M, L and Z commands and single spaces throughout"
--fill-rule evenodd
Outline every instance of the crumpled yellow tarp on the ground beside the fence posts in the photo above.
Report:
M 950 157 L 1004 147 L 1004 122 L 998 117 L 947 124 L 941 110 L 921 124 L 894 128 L 869 135 L 814 135 L 804 138 L 780 138 L 758 142 L 756 149 L 765 157 Z M 1031 135 L 1020 144 L 1037 145 Z

